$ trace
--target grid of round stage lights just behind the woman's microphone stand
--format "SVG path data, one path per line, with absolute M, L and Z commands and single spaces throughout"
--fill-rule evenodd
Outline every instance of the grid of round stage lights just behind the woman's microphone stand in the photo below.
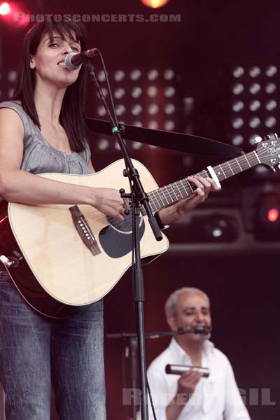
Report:
M 119 122 L 152 130 L 181 131 L 179 112 L 180 76 L 171 67 L 138 68 L 128 67 L 111 69 L 109 73 L 116 113 Z M 103 71 L 97 78 L 105 97 L 108 95 Z M 94 118 L 106 119 L 106 111 L 96 93 Z M 97 141 L 99 151 L 108 151 L 118 144 L 101 137 Z M 155 148 L 132 141 L 131 147 L 139 149 Z

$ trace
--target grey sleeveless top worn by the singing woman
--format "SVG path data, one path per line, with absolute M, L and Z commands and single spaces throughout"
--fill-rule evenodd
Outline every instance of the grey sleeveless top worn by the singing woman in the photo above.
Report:
M 90 162 L 90 146 L 88 146 L 86 141 L 83 152 L 73 152 L 69 155 L 58 151 L 43 138 L 37 125 L 33 123 L 20 104 L 12 101 L 1 102 L 0 108 L 13 109 L 22 120 L 25 129 L 23 158 L 20 167 L 22 171 L 31 172 L 32 174 L 43 174 L 46 172 L 77 175 L 90 174 L 90 169 L 87 167 L 88 162 Z

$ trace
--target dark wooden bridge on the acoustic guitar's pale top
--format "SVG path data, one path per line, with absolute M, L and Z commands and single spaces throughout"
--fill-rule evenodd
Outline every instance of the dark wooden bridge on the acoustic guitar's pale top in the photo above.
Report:
M 71 211 L 71 215 L 73 218 L 73 223 L 75 225 L 75 228 L 80 235 L 80 238 L 83 240 L 83 243 L 87 248 L 89 248 L 92 255 L 97 255 L 101 253 L 99 246 L 97 244 L 96 239 L 94 238 L 94 235 L 90 229 L 90 226 L 87 223 L 87 219 L 83 215 L 83 213 L 80 211 L 78 206 L 72 206 L 69 207 L 69 210 Z

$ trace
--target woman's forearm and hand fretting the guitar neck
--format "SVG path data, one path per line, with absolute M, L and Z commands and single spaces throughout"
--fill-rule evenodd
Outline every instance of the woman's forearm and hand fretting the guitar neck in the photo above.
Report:
M 190 197 L 179 200 L 176 204 L 159 211 L 160 220 L 163 225 L 169 225 L 177 221 L 186 213 L 195 209 L 198 204 L 203 203 L 211 191 L 218 190 L 216 183 L 211 178 L 188 176 L 188 181 L 193 183 L 197 188 Z

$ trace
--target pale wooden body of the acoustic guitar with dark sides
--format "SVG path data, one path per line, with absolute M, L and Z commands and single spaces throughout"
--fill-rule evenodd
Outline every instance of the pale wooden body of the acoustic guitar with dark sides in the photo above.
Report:
M 158 188 L 144 165 L 137 161 L 134 165 L 145 190 Z M 128 192 L 123 169 L 123 160 L 118 160 L 96 174 L 40 176 L 81 186 L 125 188 Z M 80 307 L 109 293 L 131 266 L 131 214 L 122 223 L 83 204 L 0 205 L 1 253 L 23 257 L 18 267 L 6 269 L 25 300 L 41 314 L 73 316 Z M 87 232 L 93 238 L 91 248 L 87 246 Z M 140 235 L 141 257 L 145 260 L 167 251 L 167 237 L 155 240 L 147 216 L 141 217 Z

